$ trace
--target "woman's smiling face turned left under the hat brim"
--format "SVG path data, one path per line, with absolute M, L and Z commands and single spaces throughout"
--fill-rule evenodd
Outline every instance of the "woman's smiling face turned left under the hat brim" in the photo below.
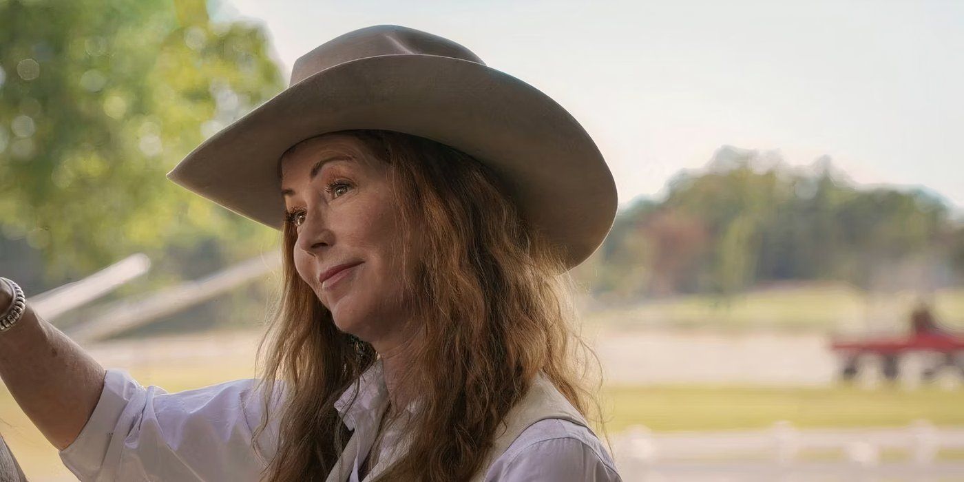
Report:
M 298 231 L 298 274 L 339 330 L 376 349 L 407 321 L 402 281 L 410 270 L 400 255 L 390 169 L 344 134 L 309 139 L 281 159 L 285 208 Z

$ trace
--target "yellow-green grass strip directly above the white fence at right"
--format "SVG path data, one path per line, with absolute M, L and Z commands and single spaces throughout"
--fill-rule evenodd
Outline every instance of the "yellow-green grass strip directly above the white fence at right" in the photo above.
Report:
M 640 424 L 654 431 L 763 428 L 787 420 L 797 428 L 880 427 L 927 419 L 964 425 L 964 390 L 921 388 L 610 387 L 607 429 Z

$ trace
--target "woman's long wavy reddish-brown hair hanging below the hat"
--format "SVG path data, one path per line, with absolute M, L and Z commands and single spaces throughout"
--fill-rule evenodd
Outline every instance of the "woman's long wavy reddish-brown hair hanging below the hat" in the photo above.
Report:
M 415 275 L 405 280 L 420 339 L 406 383 L 419 410 L 406 425 L 406 453 L 380 480 L 451 481 L 483 469 L 498 423 L 544 373 L 582 415 L 602 428 L 594 393 L 595 353 L 576 324 L 576 283 L 560 251 L 522 218 L 485 165 L 440 143 L 392 131 L 341 131 L 390 165 L 403 251 L 418 229 Z M 281 229 L 282 292 L 257 350 L 264 414 L 279 416 L 262 480 L 327 476 L 350 436 L 335 400 L 377 359 L 372 346 L 340 332 L 297 274 L 294 225 Z M 272 411 L 276 383 L 281 408 Z M 266 427 L 262 418 L 254 440 Z

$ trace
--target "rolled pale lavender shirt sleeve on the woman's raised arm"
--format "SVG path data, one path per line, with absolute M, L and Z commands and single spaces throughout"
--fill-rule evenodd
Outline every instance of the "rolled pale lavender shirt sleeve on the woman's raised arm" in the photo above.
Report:
M 61 460 L 81 481 L 257 481 L 264 465 L 251 446 L 262 412 L 254 382 L 168 393 L 110 368 L 94 413 Z M 277 433 L 269 425 L 263 437 L 265 446 Z

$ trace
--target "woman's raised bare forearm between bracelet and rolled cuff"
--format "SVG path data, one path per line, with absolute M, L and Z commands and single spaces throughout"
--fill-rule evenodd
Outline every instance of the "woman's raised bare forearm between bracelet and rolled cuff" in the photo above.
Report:
M 0 315 L 13 301 L 0 282 Z M 0 378 L 24 414 L 58 450 L 77 438 L 94 412 L 105 371 L 83 348 L 27 304 L 0 332 Z

